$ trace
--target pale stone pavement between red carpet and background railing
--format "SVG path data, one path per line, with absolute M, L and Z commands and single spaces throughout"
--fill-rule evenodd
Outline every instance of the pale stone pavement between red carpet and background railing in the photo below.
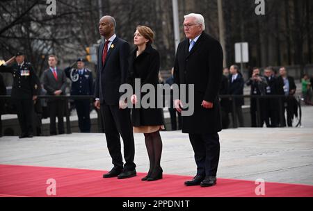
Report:
M 220 135 L 218 177 L 313 185 L 313 107 L 303 107 L 300 128 L 236 128 Z M 148 158 L 142 134 L 135 134 L 137 171 Z M 162 131 L 165 174 L 193 176 L 195 162 L 188 135 Z M 0 138 L 0 164 L 110 170 L 104 134 L 72 133 L 52 137 Z

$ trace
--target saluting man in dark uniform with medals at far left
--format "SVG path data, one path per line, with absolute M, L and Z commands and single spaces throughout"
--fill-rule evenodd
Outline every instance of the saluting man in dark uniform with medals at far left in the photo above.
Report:
M 13 87 L 11 98 L 17 109 L 17 117 L 22 134 L 19 138 L 33 137 L 33 101 L 37 99 L 38 85 L 35 81 L 37 76 L 29 62 L 24 62 L 24 53 L 17 52 L 16 56 L 10 58 L 4 65 L 0 66 L 1 72 L 13 75 Z M 16 63 L 7 66 L 15 59 Z

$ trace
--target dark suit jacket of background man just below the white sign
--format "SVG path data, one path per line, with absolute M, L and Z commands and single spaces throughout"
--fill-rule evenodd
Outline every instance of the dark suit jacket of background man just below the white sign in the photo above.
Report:
M 238 74 L 237 78 L 232 81 L 232 74 L 229 76 L 230 81 L 230 87 L 229 87 L 229 94 L 234 95 L 243 95 L 243 86 L 245 85 L 245 82 L 243 81 L 243 77 L 241 74 Z M 236 106 L 243 105 L 244 101 L 243 98 L 237 98 L 235 100 Z

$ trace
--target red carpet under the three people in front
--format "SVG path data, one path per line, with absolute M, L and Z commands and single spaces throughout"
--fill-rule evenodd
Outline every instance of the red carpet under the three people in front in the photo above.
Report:
M 191 177 L 164 175 L 162 180 L 143 182 L 134 178 L 102 178 L 105 171 L 30 167 L 0 164 L 0 196 L 47 196 L 47 180 L 56 180 L 56 196 L 110 197 L 255 197 L 254 181 L 218 178 L 214 187 L 185 187 Z M 312 185 L 265 183 L 265 196 L 313 196 Z M 49 196 L 51 197 L 51 196 Z M 259 196 L 257 196 L 259 197 Z

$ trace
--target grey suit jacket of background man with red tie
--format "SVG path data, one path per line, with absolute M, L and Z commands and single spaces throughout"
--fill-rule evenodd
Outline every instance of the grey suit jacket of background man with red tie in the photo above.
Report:
M 62 69 L 56 68 L 56 74 L 58 80 L 54 78 L 54 74 L 50 69 L 46 69 L 42 74 L 42 83 L 45 90 L 47 90 L 47 95 L 54 95 L 56 90 L 62 90 L 61 95 L 65 95 L 66 88 L 66 75 Z

